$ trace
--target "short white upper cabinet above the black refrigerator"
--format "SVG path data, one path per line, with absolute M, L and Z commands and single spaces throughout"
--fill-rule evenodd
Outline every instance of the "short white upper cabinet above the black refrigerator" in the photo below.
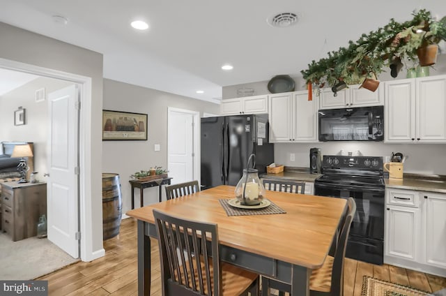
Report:
M 230 98 L 222 100 L 220 114 L 261 114 L 268 113 L 268 96 L 247 96 L 245 98 Z

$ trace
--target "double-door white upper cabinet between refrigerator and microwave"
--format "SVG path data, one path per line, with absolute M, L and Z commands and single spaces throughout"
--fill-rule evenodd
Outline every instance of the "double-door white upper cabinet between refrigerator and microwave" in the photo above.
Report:
M 317 101 L 307 91 L 269 97 L 270 142 L 318 142 Z

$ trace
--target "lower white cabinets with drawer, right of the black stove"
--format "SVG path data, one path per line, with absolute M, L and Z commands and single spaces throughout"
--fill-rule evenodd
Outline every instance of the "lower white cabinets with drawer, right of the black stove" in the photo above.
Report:
M 384 262 L 446 276 L 446 194 L 386 188 Z

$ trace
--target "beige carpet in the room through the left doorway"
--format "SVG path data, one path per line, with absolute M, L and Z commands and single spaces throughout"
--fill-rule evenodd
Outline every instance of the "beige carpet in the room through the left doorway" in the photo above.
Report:
M 0 280 L 36 279 L 77 261 L 46 238 L 13 242 L 0 233 Z

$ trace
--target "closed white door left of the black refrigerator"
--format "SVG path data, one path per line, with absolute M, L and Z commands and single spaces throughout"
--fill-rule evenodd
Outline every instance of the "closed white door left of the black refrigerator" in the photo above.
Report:
M 169 177 L 173 178 L 172 184 L 198 179 L 194 172 L 195 142 L 198 138 L 198 134 L 194 133 L 194 121 L 197 118 L 197 112 L 169 108 L 167 169 Z

